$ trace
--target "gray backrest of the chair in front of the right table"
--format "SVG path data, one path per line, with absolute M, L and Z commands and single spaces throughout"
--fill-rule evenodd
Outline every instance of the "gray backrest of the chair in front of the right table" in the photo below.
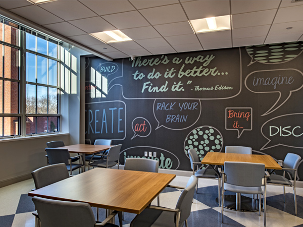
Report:
M 225 161 L 224 162 L 225 182 L 231 185 L 243 187 L 260 187 L 264 182 L 265 164 Z

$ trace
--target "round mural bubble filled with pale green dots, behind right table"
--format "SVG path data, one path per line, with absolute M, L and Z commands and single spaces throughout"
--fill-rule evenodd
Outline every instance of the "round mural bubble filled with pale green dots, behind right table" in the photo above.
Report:
M 221 152 L 223 137 L 219 130 L 212 126 L 201 126 L 192 130 L 184 141 L 184 152 L 188 156 L 189 149 L 195 149 L 199 159 L 208 152 Z

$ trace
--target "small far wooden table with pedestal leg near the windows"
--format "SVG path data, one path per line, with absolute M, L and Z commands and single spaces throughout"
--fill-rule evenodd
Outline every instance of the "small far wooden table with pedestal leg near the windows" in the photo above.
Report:
M 82 154 L 82 160 L 84 164 L 84 172 L 85 172 L 85 155 L 86 154 L 94 154 L 101 151 L 106 151 L 110 149 L 112 146 L 108 145 L 91 145 L 91 144 L 75 144 L 58 148 L 67 148 L 71 153 L 80 153 Z

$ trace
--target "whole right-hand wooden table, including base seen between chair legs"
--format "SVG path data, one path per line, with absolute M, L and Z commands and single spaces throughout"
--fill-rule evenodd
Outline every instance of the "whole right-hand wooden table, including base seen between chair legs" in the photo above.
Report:
M 263 163 L 265 168 L 268 169 L 282 169 L 282 167 L 270 156 L 262 154 L 235 154 L 235 153 L 221 153 L 221 152 L 208 152 L 202 164 L 210 165 L 224 165 L 225 161 L 242 161 Z M 218 198 L 217 198 L 218 200 Z M 218 201 L 217 201 L 218 202 Z M 226 208 L 238 211 L 256 211 L 258 210 L 258 200 L 251 199 L 241 194 L 226 195 L 224 196 L 224 204 Z

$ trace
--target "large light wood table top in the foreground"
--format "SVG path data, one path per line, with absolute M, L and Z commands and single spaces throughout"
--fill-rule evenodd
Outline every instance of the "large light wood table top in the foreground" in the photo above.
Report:
M 94 207 L 139 214 L 175 177 L 173 174 L 94 168 L 28 195 L 87 202 Z

